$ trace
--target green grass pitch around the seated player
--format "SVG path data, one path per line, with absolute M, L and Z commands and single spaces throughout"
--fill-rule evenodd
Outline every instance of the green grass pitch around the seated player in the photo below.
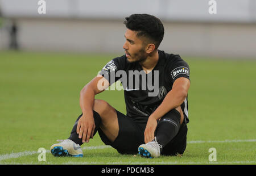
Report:
M 98 135 L 82 145 L 82 158 L 52 156 L 50 146 L 69 136 L 81 113 L 80 90 L 115 56 L 0 52 L 0 164 L 256 164 L 256 61 L 185 56 L 190 123 L 182 157 L 121 155 Z M 123 91 L 96 98 L 126 113 Z M 217 161 L 209 161 L 210 148 Z

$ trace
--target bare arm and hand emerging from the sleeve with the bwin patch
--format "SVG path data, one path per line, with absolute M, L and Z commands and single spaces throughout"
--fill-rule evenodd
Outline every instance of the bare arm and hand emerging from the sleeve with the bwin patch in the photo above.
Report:
M 172 86 L 172 90 L 166 95 L 163 102 L 158 108 L 149 116 L 146 129 L 144 131 L 145 144 L 154 139 L 154 132 L 157 125 L 157 120 L 160 119 L 168 111 L 176 108 L 181 114 L 181 120 L 183 120 L 183 112 L 180 105 L 184 102 L 188 94 L 190 81 L 187 78 L 177 78 Z M 182 123 L 182 121 L 181 121 Z

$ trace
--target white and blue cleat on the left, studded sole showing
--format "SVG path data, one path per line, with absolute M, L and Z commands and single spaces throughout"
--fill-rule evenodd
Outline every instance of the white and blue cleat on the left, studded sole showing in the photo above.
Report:
M 59 144 L 53 144 L 50 148 L 51 153 L 55 157 L 82 157 L 82 149 L 79 144 L 72 140 L 60 140 Z

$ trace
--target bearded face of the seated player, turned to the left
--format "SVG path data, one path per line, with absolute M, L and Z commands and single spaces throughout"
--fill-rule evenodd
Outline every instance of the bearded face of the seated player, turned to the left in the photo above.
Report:
M 136 36 L 135 31 L 127 29 L 125 32 L 125 44 L 123 44 L 123 49 L 125 49 L 125 54 L 129 62 L 141 62 L 146 60 L 147 53 L 145 51 L 145 45 L 143 40 Z

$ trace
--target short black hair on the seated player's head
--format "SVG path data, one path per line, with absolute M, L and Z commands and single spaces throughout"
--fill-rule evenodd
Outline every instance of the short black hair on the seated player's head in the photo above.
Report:
M 137 31 L 137 36 L 150 39 L 157 49 L 163 40 L 164 27 L 160 19 L 149 14 L 133 14 L 125 18 L 123 22 L 131 31 Z

